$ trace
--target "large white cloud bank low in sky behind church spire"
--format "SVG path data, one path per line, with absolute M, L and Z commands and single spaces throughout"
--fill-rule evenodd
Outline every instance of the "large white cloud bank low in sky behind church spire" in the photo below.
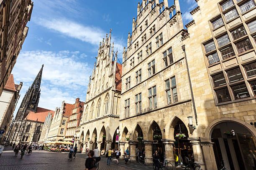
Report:
M 12 71 L 15 83 L 23 82 L 15 113 L 42 64 L 44 69 L 39 107 L 55 110 L 61 106 L 63 100 L 74 103 L 75 99 L 80 97 L 80 100 L 84 101 L 93 65 L 75 60 L 81 55 L 86 56 L 79 54 L 79 51 L 68 50 L 21 52 Z

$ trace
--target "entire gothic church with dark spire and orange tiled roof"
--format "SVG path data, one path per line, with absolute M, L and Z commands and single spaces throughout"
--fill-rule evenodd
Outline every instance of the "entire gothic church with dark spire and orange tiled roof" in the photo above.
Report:
M 38 142 L 46 116 L 49 113 L 54 113 L 52 110 L 38 107 L 43 67 L 44 65 L 42 65 L 31 87 L 28 88 L 11 124 L 7 139 L 10 143 Z

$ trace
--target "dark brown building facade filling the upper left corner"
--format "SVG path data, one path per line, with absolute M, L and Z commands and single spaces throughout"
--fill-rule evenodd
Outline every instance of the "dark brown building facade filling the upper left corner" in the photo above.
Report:
M 28 34 L 32 9 L 31 0 L 0 1 L 0 95 Z

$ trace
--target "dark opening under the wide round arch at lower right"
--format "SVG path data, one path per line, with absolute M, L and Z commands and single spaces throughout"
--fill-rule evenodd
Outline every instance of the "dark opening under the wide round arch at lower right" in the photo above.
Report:
M 212 127 L 209 135 L 214 143 L 217 167 L 220 167 L 223 160 L 228 170 L 253 170 L 256 140 L 246 126 L 235 121 L 219 122 Z

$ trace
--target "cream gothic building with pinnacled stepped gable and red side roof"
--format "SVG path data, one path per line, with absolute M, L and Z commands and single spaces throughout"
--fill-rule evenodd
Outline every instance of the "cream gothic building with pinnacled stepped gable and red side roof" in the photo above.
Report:
M 114 136 L 119 127 L 119 108 L 121 93 L 122 65 L 114 57 L 114 43 L 111 47 L 110 35 L 100 42 L 92 76 L 87 89 L 84 112 L 77 131 L 77 147 L 94 148 L 98 146 L 102 153 L 106 148 L 115 147 Z M 79 129 L 79 128 L 78 128 Z

